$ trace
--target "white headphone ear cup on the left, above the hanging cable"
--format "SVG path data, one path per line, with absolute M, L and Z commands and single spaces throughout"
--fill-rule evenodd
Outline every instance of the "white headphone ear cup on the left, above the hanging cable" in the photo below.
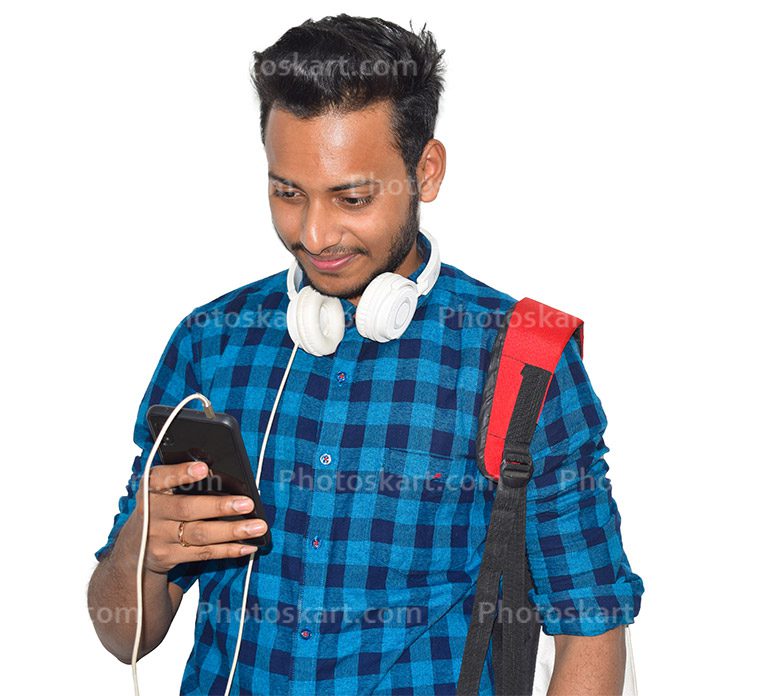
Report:
M 291 339 L 312 355 L 331 355 L 345 334 L 345 312 L 336 297 L 306 285 L 289 302 L 286 324 Z

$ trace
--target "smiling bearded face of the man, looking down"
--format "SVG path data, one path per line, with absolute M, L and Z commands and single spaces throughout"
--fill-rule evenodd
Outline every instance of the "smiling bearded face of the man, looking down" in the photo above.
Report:
M 419 195 L 390 119 L 385 102 L 312 119 L 274 107 L 265 128 L 278 236 L 312 287 L 354 304 L 379 273 L 420 264 Z

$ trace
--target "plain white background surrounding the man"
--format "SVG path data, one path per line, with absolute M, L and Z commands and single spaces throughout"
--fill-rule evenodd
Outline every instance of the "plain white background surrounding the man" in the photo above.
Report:
M 251 52 L 346 11 L 446 50 L 443 259 L 585 321 L 646 694 L 766 689 L 770 22 L 760 2 L 66 2 L 0 17 L 4 683 L 131 693 L 86 610 L 194 307 L 286 267 Z M 140 662 L 177 693 L 190 591 Z M 13 676 L 11 676 L 13 675 Z

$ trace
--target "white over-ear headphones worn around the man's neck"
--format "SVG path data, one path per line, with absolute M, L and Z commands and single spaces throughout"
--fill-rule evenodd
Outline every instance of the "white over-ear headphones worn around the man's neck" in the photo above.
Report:
M 406 331 L 417 309 L 417 298 L 427 295 L 441 271 L 438 245 L 425 230 L 430 257 L 417 282 L 398 273 L 380 273 L 366 286 L 356 307 L 356 328 L 364 338 L 385 343 Z M 312 355 L 331 355 L 345 334 L 345 311 L 338 297 L 322 295 L 306 285 L 298 290 L 302 268 L 296 257 L 286 275 L 289 335 L 302 350 Z

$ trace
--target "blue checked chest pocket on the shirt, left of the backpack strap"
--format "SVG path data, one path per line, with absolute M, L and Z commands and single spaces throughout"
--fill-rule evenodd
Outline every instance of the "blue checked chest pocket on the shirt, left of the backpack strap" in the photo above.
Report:
M 371 520 L 370 565 L 419 575 L 462 568 L 474 504 L 475 461 L 389 448 Z

